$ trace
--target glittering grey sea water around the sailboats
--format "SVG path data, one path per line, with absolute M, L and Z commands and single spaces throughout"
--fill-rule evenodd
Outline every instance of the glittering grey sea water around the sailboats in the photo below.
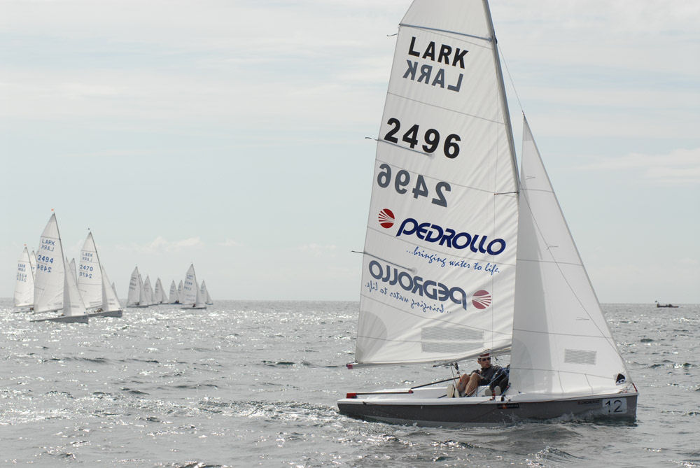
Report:
M 355 302 L 156 306 L 88 325 L 30 323 L 10 305 L 0 299 L 1 466 L 700 467 L 700 305 L 603 305 L 640 390 L 635 424 L 460 430 L 337 412 L 347 391 L 449 377 L 345 369 Z

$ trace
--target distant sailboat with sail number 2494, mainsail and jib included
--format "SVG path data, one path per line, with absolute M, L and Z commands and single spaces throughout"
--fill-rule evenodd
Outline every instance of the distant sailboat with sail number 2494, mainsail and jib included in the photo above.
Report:
M 80 297 L 76 278 L 71 271 L 67 270 L 58 222 L 55 213 L 52 213 L 41 233 L 36 255 L 34 311 L 51 312 L 63 309 L 63 314 L 58 317 L 31 320 L 32 322 L 50 320 L 87 323 L 85 305 Z

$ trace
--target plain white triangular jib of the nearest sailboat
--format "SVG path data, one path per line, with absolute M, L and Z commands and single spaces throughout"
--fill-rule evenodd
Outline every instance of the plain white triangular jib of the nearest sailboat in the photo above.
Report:
M 618 374 L 629 374 L 526 120 L 520 180 L 512 390 L 568 396 L 617 392 Z

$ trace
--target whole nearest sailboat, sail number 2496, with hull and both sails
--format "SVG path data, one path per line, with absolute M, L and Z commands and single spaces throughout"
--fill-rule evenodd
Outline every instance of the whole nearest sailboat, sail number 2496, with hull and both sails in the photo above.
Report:
M 458 372 L 510 354 L 510 385 L 461 398 L 453 378 L 351 391 L 341 413 L 445 427 L 636 418 L 638 392 L 523 125 L 518 175 L 487 0 L 414 0 L 377 139 L 348 367 Z

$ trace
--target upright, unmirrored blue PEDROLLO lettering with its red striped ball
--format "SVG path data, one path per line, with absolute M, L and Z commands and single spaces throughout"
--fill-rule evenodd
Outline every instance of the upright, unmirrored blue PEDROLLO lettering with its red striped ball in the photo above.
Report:
M 385 229 L 389 229 L 394 225 L 393 213 L 391 213 L 391 220 L 386 220 L 387 213 L 391 213 L 391 210 L 384 208 L 379 213 L 379 225 Z M 396 232 L 396 237 L 413 235 L 421 239 L 421 241 L 436 242 L 440 246 L 447 246 L 447 248 L 456 248 L 457 250 L 470 248 L 474 253 L 498 255 L 505 250 L 505 241 L 503 239 L 492 239 L 489 241 L 488 236 L 482 234 L 456 232 L 449 227 L 442 227 L 430 222 L 418 222 L 414 218 L 406 218 L 401 222 L 398 232 Z

